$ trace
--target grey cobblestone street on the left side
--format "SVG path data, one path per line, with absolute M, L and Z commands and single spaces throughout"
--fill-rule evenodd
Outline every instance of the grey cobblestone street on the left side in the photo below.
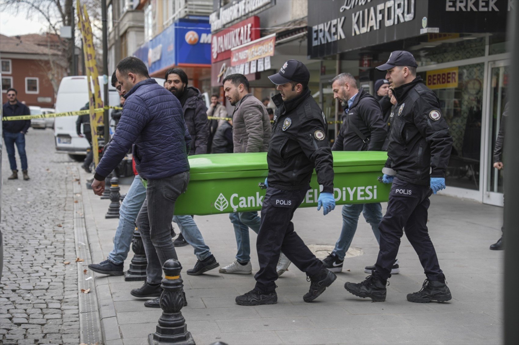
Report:
M 7 180 L 6 151 L 2 157 L 0 343 L 79 344 L 72 193 L 77 164 L 56 153 L 49 128 L 29 130 L 26 152 L 29 181 Z

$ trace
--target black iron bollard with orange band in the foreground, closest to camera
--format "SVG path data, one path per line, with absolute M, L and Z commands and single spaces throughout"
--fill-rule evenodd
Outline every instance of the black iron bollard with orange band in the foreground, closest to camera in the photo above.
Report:
M 180 278 L 182 265 L 175 259 L 169 259 L 164 263 L 162 269 L 165 277 L 162 279 L 162 295 L 160 295 L 162 315 L 160 315 L 156 332 L 148 336 L 148 343 L 149 345 L 194 345 L 195 340 L 188 332 L 186 320 L 181 312 L 185 298 L 182 294 L 184 285 Z

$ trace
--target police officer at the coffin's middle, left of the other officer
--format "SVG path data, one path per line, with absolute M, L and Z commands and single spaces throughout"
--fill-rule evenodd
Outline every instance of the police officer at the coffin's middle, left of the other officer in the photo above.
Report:
M 323 214 L 327 214 L 335 208 L 332 151 L 325 135 L 324 114 L 308 89 L 310 73 L 302 62 L 289 60 L 268 78 L 278 85 L 280 93 L 272 97 L 278 108 L 267 153 L 267 193 L 256 240 L 260 270 L 254 276 L 254 289 L 236 297 L 242 306 L 277 303 L 276 265 L 281 250 L 310 278 L 305 302 L 316 299 L 337 278 L 312 254 L 291 222 L 310 189 L 314 168 L 317 181 L 323 185 L 317 209 L 323 207 Z

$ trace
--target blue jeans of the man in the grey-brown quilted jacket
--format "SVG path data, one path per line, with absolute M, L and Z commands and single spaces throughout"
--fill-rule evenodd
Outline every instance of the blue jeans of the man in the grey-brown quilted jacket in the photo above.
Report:
M 229 219 L 234 226 L 234 235 L 238 247 L 236 260 L 240 263 L 249 262 L 251 260 L 249 227 L 256 234 L 260 232 L 261 218 L 258 216 L 258 212 L 233 212 L 229 213 Z

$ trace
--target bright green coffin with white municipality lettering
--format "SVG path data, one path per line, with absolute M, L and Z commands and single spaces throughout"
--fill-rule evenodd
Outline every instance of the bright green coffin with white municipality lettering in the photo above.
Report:
M 334 151 L 334 197 L 337 205 L 387 202 L 390 184 L 379 182 L 386 152 Z M 268 175 L 267 153 L 225 153 L 189 156 L 187 191 L 175 203 L 175 214 L 259 211 L 265 197 L 258 183 Z M 315 171 L 300 207 L 317 207 Z

